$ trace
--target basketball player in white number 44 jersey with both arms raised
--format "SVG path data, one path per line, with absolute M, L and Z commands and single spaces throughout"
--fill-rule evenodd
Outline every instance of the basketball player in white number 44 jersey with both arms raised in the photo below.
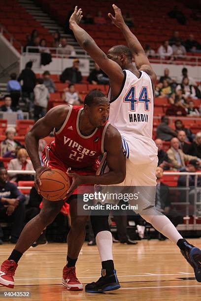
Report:
M 93 38 L 82 28 L 81 9 L 75 7 L 69 24 L 80 46 L 98 63 L 110 80 L 109 121 L 122 135 L 123 148 L 127 157 L 126 179 L 120 185 L 146 186 L 140 206 L 136 211 L 164 236 L 177 244 L 182 255 L 194 268 L 196 279 L 201 282 L 201 250 L 182 238 L 167 218 L 155 208 L 155 195 L 149 194 L 156 187 L 155 171 L 158 163 L 157 148 L 152 140 L 153 87 L 156 74 L 147 59 L 137 38 L 125 24 L 121 10 L 112 5 L 115 16 L 108 14 L 113 23 L 124 34 L 128 47 L 112 47 L 107 56 L 97 46 Z M 136 69 L 132 64 L 134 58 Z M 112 141 L 111 141 L 112 143 Z M 104 160 L 104 158 L 103 158 Z M 102 172 L 106 163 L 102 161 Z M 154 190 L 155 191 L 155 190 Z M 148 193 L 146 193 L 148 192 Z M 112 236 L 105 216 L 91 216 L 94 234 L 102 263 L 101 277 L 97 282 L 86 285 L 86 292 L 97 293 L 115 290 L 120 287 L 112 257 Z

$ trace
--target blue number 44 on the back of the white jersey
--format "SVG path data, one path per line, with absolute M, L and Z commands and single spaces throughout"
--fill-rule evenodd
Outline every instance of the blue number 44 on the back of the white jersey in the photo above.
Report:
M 143 102 L 144 103 L 144 110 L 149 111 L 149 103 L 151 102 L 151 99 L 148 98 L 148 90 L 147 87 L 142 87 L 139 97 L 137 98 L 135 95 L 135 86 L 132 86 L 126 96 L 124 97 L 124 102 L 130 103 L 130 111 L 135 111 L 136 104 Z

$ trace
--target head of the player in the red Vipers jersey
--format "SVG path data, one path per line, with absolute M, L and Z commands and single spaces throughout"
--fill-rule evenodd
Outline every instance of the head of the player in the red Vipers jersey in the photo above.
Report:
M 97 101 L 88 107 L 88 110 L 91 124 L 100 128 L 109 116 L 109 102 L 106 97 L 97 98 Z

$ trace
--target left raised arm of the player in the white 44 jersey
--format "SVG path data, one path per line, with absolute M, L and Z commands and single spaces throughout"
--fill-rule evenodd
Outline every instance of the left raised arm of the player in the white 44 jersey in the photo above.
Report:
M 81 18 L 82 11 L 81 9 L 78 10 L 76 6 L 69 20 L 70 29 L 73 31 L 79 45 L 88 52 L 90 57 L 96 61 L 108 77 L 118 84 L 119 92 L 119 88 L 124 80 L 124 73 L 121 67 L 115 61 L 109 60 L 105 53 L 98 47 L 94 39 L 86 32 L 86 30 L 79 26 Z

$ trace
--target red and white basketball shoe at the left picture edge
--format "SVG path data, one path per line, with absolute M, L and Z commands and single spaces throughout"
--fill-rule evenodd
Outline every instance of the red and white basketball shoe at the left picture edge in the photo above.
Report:
M 5 260 L 0 267 L 0 285 L 13 288 L 15 270 L 17 269 L 17 264 L 14 260 Z

